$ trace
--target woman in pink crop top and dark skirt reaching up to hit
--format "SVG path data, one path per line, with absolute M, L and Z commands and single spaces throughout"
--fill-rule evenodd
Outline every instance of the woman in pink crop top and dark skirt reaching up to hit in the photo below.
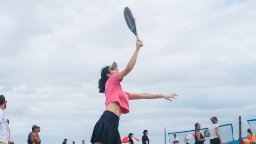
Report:
M 143 45 L 141 40 L 136 42 L 136 50 L 128 62 L 126 68 L 119 72 L 117 63 L 112 63 L 101 70 L 101 79 L 99 80 L 99 92 L 105 93 L 106 96 L 106 111 L 103 112 L 101 118 L 94 126 L 91 135 L 92 144 L 121 144 L 121 138 L 118 131 L 119 117 L 121 114 L 129 112 L 129 99 L 157 99 L 165 98 L 172 101 L 170 98 L 176 99 L 176 93 L 170 95 L 150 94 L 150 93 L 128 93 L 122 90 L 120 82 L 133 69 L 137 55 L 140 50 L 140 45 Z

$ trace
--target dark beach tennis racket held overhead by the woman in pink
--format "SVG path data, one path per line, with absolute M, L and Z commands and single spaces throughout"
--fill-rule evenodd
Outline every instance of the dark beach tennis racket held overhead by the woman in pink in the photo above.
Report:
M 136 25 L 135 25 L 135 18 L 133 17 L 131 10 L 128 7 L 125 7 L 124 9 L 124 16 L 125 21 L 127 23 L 127 26 L 131 30 L 132 33 L 136 36 L 137 39 L 139 39 L 139 36 L 137 34 Z M 143 45 L 140 45 L 142 47 Z

